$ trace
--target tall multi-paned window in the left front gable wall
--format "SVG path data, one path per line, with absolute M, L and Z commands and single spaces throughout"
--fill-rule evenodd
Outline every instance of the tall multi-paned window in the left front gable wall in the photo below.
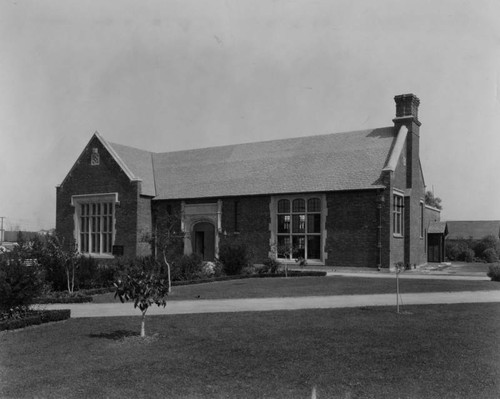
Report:
M 76 197 L 76 198 L 75 198 Z M 115 196 L 75 196 L 78 251 L 91 255 L 111 255 L 114 240 Z

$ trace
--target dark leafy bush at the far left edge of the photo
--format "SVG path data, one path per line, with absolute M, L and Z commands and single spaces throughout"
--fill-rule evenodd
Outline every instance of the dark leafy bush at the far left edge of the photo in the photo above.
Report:
M 29 307 L 43 289 L 40 267 L 27 266 L 18 254 L 0 259 L 0 311 Z

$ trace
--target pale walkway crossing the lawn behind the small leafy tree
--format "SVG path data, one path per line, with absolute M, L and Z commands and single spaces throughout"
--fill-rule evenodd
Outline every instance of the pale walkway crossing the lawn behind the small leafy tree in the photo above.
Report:
M 400 304 L 427 305 L 500 302 L 500 291 L 426 292 L 402 294 Z M 43 309 L 71 309 L 71 317 L 140 316 L 132 303 L 53 304 Z M 218 299 L 169 301 L 165 308 L 154 306 L 148 315 L 188 313 L 261 312 L 271 310 L 329 309 L 361 306 L 396 306 L 395 294 L 309 296 L 295 298 Z

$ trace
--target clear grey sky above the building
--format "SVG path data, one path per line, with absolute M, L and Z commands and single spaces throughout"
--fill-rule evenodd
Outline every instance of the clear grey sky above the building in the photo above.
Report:
M 0 4 L 0 216 L 55 227 L 98 131 L 166 152 L 391 126 L 421 101 L 442 220 L 500 220 L 497 0 Z

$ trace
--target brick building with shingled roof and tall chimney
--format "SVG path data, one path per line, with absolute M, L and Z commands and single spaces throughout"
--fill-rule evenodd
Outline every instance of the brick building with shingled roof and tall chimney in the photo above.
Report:
M 427 262 L 419 99 L 395 97 L 390 127 L 153 153 L 95 133 L 57 187 L 58 234 L 82 253 L 147 255 L 144 238 L 178 214 L 184 253 L 217 257 L 243 240 L 268 257 L 310 265 Z

